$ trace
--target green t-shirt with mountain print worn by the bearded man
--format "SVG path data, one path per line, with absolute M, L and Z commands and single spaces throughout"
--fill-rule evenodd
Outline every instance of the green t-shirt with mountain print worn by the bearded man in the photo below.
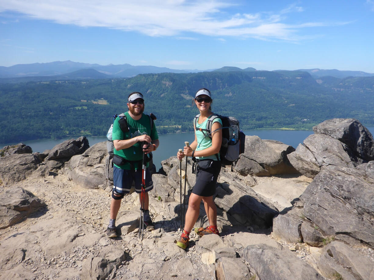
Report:
M 112 139 L 113 140 L 125 140 L 125 139 L 131 139 L 140 135 L 147 134 L 151 137 L 152 141 L 159 139 L 159 136 L 157 134 L 156 125 L 153 123 L 153 129 L 151 130 L 151 122 L 150 117 L 142 114 L 141 118 L 137 121 L 129 115 L 129 112 L 125 112 L 126 119 L 127 119 L 127 125 L 129 127 L 129 132 L 123 133 L 118 121 L 120 120 L 119 117 L 117 117 L 113 122 L 113 134 Z M 152 131 L 152 133 L 151 133 Z M 133 146 L 119 150 L 117 151 L 114 149 L 114 155 L 121 156 L 124 159 L 127 159 L 128 161 L 139 161 L 138 163 L 134 164 L 135 169 L 141 169 L 142 168 L 142 159 L 143 159 L 143 149 L 142 149 L 143 143 L 137 142 Z M 122 169 L 131 169 L 131 164 L 126 163 L 124 165 L 116 165 L 114 166 Z M 148 167 L 148 163 L 147 163 Z

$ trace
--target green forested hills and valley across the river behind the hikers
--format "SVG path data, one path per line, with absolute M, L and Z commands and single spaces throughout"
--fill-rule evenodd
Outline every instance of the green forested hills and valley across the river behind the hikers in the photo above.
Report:
M 301 71 L 141 74 L 104 80 L 0 84 L 0 143 L 105 136 L 113 115 L 140 91 L 159 133 L 193 130 L 194 93 L 212 92 L 212 111 L 235 116 L 241 129 L 311 129 L 331 118 L 374 125 L 374 77 L 317 80 Z

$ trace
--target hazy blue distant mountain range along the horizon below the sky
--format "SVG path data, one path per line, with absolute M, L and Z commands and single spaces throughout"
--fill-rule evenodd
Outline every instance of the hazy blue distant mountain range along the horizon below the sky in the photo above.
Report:
M 99 65 L 90 63 L 67 61 L 55 61 L 48 63 L 17 64 L 9 67 L 0 66 L 1 82 L 27 82 L 27 81 L 50 81 L 59 79 L 105 79 L 105 78 L 128 78 L 138 74 L 159 74 L 159 73 L 197 73 L 197 72 L 230 72 L 230 71 L 258 71 L 248 67 L 224 66 L 220 69 L 207 70 L 178 70 L 156 66 L 133 66 L 130 64 Z M 337 69 L 298 69 L 294 71 L 308 72 L 313 78 L 331 76 L 335 78 L 346 77 L 371 77 L 374 73 L 362 71 L 339 71 Z M 275 70 L 275 72 L 286 72 L 286 70 Z

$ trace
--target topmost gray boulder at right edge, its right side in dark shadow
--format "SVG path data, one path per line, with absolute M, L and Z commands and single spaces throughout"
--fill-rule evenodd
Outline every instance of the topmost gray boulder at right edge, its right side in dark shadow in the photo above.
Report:
M 313 127 L 313 131 L 341 141 L 365 161 L 374 160 L 373 135 L 356 119 L 328 119 Z

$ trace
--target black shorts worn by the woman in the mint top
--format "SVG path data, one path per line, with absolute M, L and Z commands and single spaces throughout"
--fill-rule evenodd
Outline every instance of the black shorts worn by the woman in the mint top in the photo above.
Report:
M 192 193 L 199 196 L 215 194 L 217 178 L 221 171 L 221 162 L 213 159 L 203 159 L 197 162 L 196 183 Z

